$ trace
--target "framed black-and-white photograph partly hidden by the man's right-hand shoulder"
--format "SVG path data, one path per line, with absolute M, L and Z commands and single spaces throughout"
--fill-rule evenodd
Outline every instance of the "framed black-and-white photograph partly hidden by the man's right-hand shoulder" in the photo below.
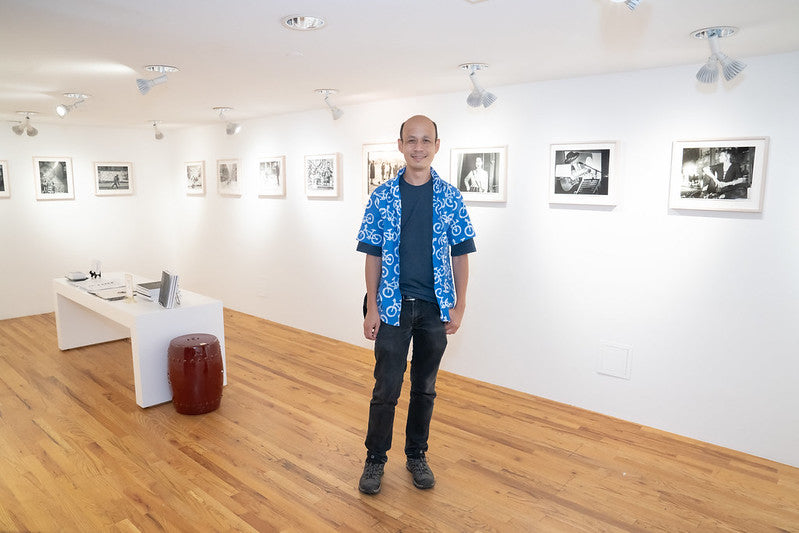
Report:
M 467 202 L 507 201 L 507 147 L 453 148 L 450 183 Z

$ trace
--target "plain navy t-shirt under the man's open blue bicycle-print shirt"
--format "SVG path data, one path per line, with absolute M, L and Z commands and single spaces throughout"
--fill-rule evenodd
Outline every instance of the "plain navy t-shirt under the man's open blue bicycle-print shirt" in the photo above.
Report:
M 400 179 L 400 292 L 405 297 L 436 302 L 433 288 L 433 180 L 411 185 Z M 379 246 L 358 242 L 358 251 L 382 255 Z M 475 251 L 474 239 L 450 248 L 453 256 Z

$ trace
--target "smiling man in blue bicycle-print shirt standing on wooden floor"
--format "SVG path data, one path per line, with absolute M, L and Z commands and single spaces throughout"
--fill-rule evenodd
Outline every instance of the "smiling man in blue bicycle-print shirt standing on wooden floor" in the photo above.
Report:
M 467 254 L 475 251 L 460 192 L 431 167 L 439 145 L 438 128 L 429 118 L 417 115 L 402 124 L 397 146 L 406 166 L 372 193 L 358 233 L 357 249 L 367 254 L 363 332 L 375 341 L 367 457 L 358 484 L 365 494 L 380 491 L 411 339 L 406 468 L 416 487 L 435 484 L 425 452 L 436 375 L 447 335 L 458 331 L 463 319 Z

